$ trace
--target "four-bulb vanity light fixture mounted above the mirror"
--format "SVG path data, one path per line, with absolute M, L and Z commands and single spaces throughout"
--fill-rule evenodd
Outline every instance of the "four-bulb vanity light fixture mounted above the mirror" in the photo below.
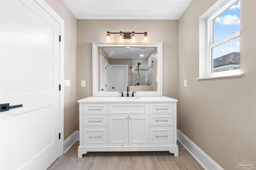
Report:
M 144 32 L 144 33 L 136 33 L 134 31 L 132 32 L 122 32 L 120 31 L 119 33 L 117 32 L 113 32 L 111 33 L 110 31 L 107 31 L 107 41 L 110 42 L 110 34 L 119 34 L 119 39 L 122 42 L 123 39 L 131 39 L 132 42 L 135 41 L 135 34 L 144 34 L 144 40 L 147 41 L 148 40 L 148 33 Z

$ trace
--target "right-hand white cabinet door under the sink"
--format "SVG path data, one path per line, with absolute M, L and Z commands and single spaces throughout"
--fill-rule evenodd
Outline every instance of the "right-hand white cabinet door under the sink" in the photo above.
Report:
M 149 115 L 129 115 L 129 145 L 149 145 Z

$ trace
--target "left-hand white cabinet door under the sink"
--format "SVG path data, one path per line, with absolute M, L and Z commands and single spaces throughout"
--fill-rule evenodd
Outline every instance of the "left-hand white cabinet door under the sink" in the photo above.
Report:
M 108 146 L 128 145 L 128 115 L 108 115 Z

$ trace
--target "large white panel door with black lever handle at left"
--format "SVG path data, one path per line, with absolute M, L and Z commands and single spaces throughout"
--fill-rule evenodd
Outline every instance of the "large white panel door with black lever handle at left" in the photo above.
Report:
M 47 169 L 59 155 L 60 24 L 32 0 L 1 0 L 0 169 Z

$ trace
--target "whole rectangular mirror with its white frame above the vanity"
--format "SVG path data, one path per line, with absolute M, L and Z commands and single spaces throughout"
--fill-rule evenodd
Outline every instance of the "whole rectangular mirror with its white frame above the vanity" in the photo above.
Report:
M 92 43 L 93 96 L 162 96 L 162 42 Z

